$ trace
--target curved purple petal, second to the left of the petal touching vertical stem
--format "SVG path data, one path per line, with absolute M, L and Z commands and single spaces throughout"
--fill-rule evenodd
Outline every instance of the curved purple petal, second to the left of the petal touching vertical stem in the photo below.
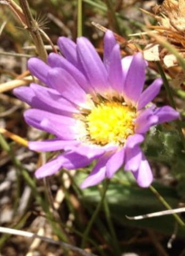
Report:
M 77 81 L 77 83 L 85 90 L 87 93 L 93 91 L 93 88 L 89 86 L 86 77 L 77 69 L 75 66 L 72 65 L 67 59 L 63 58 L 59 54 L 50 53 L 48 56 L 48 63 L 52 68 L 63 68 Z

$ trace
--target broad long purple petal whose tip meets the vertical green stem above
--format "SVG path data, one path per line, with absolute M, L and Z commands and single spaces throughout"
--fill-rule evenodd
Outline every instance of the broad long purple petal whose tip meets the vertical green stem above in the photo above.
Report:
M 107 72 L 94 46 L 85 37 L 79 37 L 77 52 L 91 86 L 98 93 L 106 91 Z

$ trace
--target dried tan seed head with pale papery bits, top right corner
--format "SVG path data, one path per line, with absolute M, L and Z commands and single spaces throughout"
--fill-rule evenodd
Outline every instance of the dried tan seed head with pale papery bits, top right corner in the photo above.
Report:
M 185 57 L 185 1 L 164 0 L 161 5 L 153 7 L 153 13 L 148 14 L 158 21 L 157 26 L 149 26 L 149 28 L 173 45 Z M 149 61 L 161 60 L 167 69 L 178 66 L 174 55 L 162 46 L 159 47 L 155 37 L 148 41 L 144 49 L 144 57 Z

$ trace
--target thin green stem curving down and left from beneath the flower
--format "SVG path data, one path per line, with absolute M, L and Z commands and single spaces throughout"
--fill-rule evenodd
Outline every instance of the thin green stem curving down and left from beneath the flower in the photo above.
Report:
M 102 207 L 102 205 L 104 203 L 104 199 L 105 199 L 106 191 L 108 189 L 108 185 L 109 185 L 109 182 L 106 181 L 105 186 L 104 186 L 103 191 L 102 191 L 102 198 L 100 199 L 100 201 L 99 201 L 99 203 L 98 203 L 98 205 L 97 205 L 97 207 L 96 207 L 96 209 L 95 209 L 95 211 L 94 211 L 90 221 L 88 222 L 86 230 L 83 233 L 83 239 L 82 239 L 82 243 L 81 243 L 81 248 L 85 247 L 89 231 L 90 231 L 90 229 L 91 229 L 91 227 L 92 227 L 92 225 L 93 225 L 93 223 L 94 223 L 94 221 L 95 221 L 95 219 L 96 219 L 96 217 L 98 215 L 99 210 L 101 209 L 101 207 Z

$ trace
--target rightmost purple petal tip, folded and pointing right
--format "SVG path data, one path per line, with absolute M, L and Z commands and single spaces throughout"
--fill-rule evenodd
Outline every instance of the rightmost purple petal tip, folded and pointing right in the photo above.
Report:
M 154 114 L 158 117 L 157 124 L 173 121 L 173 120 L 179 118 L 179 116 L 180 116 L 179 112 L 174 110 L 170 106 L 156 108 L 154 110 Z

